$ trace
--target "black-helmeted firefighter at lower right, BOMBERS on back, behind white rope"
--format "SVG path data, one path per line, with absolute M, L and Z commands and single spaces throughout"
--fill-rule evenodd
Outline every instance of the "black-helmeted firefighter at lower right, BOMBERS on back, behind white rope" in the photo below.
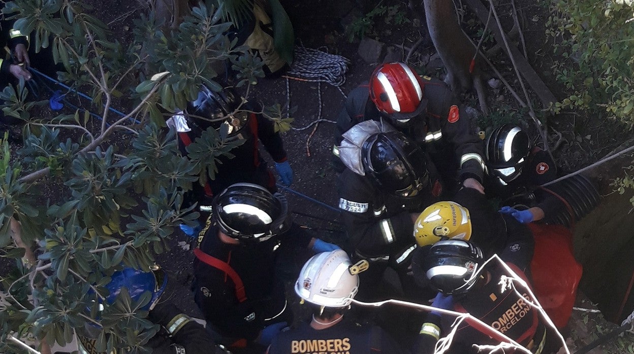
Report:
M 533 239 L 529 231 L 514 234 L 508 240 L 500 259 L 527 284 L 526 269 L 533 256 Z M 477 353 L 472 345 L 499 345 L 503 333 L 533 353 L 553 353 L 557 334 L 548 326 L 536 307 L 529 302 L 534 298 L 519 282 L 515 289 L 500 286 L 503 276 L 512 274 L 498 261 L 486 261 L 482 251 L 460 239 L 439 241 L 434 244 L 420 265 L 413 267 L 414 275 L 439 291 L 434 307 L 469 312 L 495 331 L 485 329 L 469 319 L 457 324 L 448 353 Z M 529 285 L 530 286 L 530 285 Z M 455 317 L 430 312 L 421 327 L 419 351 L 431 353 L 436 341 L 451 331 Z M 497 332 L 496 332 L 497 331 Z

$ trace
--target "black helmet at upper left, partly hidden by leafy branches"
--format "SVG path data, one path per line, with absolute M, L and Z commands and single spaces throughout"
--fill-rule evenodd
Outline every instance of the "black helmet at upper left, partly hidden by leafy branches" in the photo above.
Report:
M 208 127 L 220 129 L 225 125 L 227 134 L 231 135 L 245 127 L 249 120 L 247 111 L 236 112 L 240 103 L 242 103 L 242 96 L 231 87 L 216 92 L 206 85 L 202 85 L 198 92 L 198 98 L 187 104 L 187 113 L 206 118 L 206 120 L 196 120 L 197 125 L 202 130 Z M 225 117 L 226 119 L 222 120 Z

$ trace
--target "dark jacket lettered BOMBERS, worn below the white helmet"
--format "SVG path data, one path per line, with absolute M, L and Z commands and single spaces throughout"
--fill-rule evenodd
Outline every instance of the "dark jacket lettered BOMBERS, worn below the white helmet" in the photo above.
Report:
M 406 353 L 377 326 L 361 326 L 342 320 L 326 329 L 313 329 L 301 324 L 297 329 L 283 331 L 273 339 L 268 354 L 370 354 Z

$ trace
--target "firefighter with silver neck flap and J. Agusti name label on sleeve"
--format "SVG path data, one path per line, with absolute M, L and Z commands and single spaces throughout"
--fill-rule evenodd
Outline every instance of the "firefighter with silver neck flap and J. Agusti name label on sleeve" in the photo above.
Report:
M 408 298 L 420 296 L 407 268 L 414 220 L 440 193 L 437 172 L 413 141 L 382 120 L 358 123 L 344 134 L 337 193 L 341 221 L 355 258 L 371 263 L 359 296 L 378 300 L 387 267 L 396 270 Z M 390 294 L 389 296 L 393 296 Z

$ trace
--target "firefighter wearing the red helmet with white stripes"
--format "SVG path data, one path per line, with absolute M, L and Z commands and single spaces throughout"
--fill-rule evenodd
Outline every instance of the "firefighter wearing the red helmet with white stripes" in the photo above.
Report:
M 449 189 L 484 191 L 482 142 L 462 105 L 441 80 L 420 77 L 405 63 L 379 65 L 370 82 L 348 95 L 337 117 L 335 167 L 342 134 L 364 120 L 385 118 L 427 151 Z

